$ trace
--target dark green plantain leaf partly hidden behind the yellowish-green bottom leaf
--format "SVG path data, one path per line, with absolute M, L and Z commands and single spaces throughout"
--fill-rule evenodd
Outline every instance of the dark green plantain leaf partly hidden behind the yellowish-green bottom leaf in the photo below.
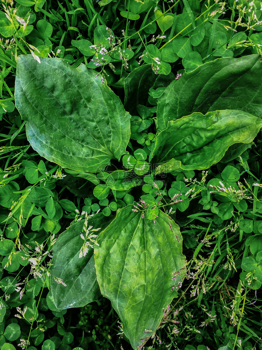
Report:
M 84 243 L 80 237 L 81 232 L 85 236 L 84 223 L 82 219 L 62 232 L 52 249 L 51 290 L 58 309 L 85 306 L 101 295 L 96 281 L 93 249 L 90 248 L 85 256 L 79 258 Z M 104 228 L 105 217 L 96 214 L 88 219 L 89 225 L 93 225 L 94 229 Z M 99 232 L 94 234 L 99 235 Z M 66 287 L 54 278 L 62 279 Z

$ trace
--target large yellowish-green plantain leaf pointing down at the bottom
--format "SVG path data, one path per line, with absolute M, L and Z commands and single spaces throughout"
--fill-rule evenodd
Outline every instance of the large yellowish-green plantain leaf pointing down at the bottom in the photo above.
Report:
M 174 281 L 172 273 L 184 268 L 185 258 L 182 236 L 174 221 L 159 211 L 154 225 L 142 218 L 142 212 L 131 209 L 129 205 L 117 211 L 114 221 L 101 232 L 94 251 L 101 292 L 111 300 L 124 334 L 136 349 L 144 330 L 158 327 L 162 309 L 177 296 L 176 288 L 172 293 L 170 290 L 182 281 L 184 273 Z

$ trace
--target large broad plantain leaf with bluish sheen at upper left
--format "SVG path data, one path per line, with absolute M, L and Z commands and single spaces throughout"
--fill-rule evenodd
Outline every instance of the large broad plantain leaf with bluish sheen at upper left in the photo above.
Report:
M 100 172 L 119 159 L 130 137 L 130 114 L 95 76 L 85 65 L 73 69 L 60 58 L 41 57 L 38 63 L 26 55 L 17 62 L 15 102 L 31 146 L 80 172 Z

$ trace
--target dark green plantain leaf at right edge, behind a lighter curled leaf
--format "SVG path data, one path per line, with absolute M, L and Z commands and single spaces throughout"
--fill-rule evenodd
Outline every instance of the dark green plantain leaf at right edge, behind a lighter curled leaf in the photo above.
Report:
M 218 58 L 183 73 L 158 100 L 158 129 L 193 112 L 232 109 L 262 117 L 261 81 L 259 55 Z

